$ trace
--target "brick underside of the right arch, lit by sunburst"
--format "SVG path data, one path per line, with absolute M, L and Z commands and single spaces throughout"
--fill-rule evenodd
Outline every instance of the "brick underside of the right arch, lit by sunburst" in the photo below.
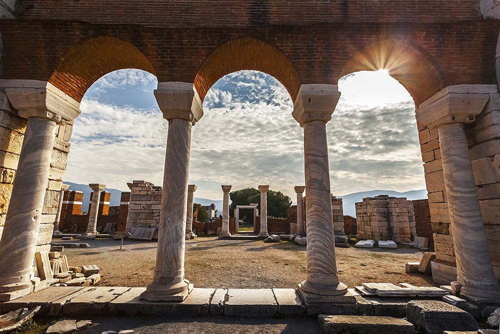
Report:
M 419 45 L 397 38 L 372 41 L 345 63 L 340 76 L 361 70 L 387 69 L 410 93 L 415 105 L 425 101 L 448 84 L 442 70 Z

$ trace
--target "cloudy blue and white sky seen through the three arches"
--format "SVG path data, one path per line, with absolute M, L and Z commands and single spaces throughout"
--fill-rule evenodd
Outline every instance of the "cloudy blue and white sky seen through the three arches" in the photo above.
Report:
M 75 119 L 65 180 L 128 190 L 144 179 L 161 185 L 168 123 L 153 96 L 155 76 L 135 69 L 97 80 Z M 339 83 L 342 96 L 326 124 L 335 195 L 425 187 L 414 105 L 385 71 L 357 72 Z M 303 130 L 286 89 L 273 77 L 239 71 L 218 80 L 193 127 L 189 182 L 196 197 L 219 200 L 232 189 L 269 184 L 295 197 L 304 183 Z

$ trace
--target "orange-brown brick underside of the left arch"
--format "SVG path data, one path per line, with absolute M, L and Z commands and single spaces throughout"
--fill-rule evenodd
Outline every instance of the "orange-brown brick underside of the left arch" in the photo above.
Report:
M 137 47 L 115 37 L 98 36 L 70 47 L 48 82 L 79 102 L 101 76 L 125 68 L 156 75 L 149 59 Z

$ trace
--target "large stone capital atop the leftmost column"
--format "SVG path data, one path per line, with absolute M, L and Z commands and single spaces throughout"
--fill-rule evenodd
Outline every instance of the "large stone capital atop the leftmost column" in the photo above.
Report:
M 0 80 L 5 94 L 20 117 L 41 117 L 64 125 L 80 114 L 80 103 L 47 81 Z

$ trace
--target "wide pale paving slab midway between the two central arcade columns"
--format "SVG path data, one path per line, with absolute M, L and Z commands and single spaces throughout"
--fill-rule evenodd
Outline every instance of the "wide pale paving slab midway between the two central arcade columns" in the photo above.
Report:
M 278 311 L 272 289 L 229 289 L 225 315 L 271 316 Z

